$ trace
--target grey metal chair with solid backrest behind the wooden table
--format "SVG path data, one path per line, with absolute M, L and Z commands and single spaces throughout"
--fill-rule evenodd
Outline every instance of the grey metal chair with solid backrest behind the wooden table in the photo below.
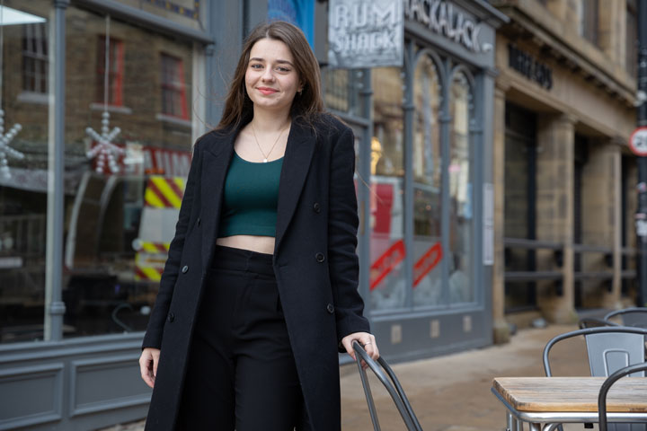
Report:
M 589 356 L 590 374 L 607 377 L 627 365 L 645 362 L 645 336 L 647 336 L 647 329 L 626 326 L 586 328 L 560 334 L 548 341 L 544 347 L 545 374 L 548 377 L 553 376 L 549 354 L 554 345 L 564 339 L 584 337 Z M 585 426 L 592 427 L 591 424 L 585 424 Z M 636 426 L 634 428 L 630 428 L 630 426 L 631 424 L 611 424 L 609 429 L 615 431 L 639 429 Z

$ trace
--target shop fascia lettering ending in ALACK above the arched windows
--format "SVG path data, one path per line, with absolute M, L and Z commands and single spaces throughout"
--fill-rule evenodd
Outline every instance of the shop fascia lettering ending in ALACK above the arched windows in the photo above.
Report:
M 475 22 L 455 4 L 445 0 L 403 0 L 406 19 L 420 22 L 472 52 L 489 52 L 491 43 L 479 40 L 481 23 Z

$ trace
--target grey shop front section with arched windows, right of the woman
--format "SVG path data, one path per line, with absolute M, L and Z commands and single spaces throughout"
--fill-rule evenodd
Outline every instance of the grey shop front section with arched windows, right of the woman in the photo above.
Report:
M 361 73 L 356 105 L 360 289 L 394 360 L 492 342 L 494 33 L 484 2 L 404 2 L 404 65 Z M 352 103 L 336 109 L 352 121 Z M 367 111 L 368 110 L 368 111 Z M 345 115 L 345 116 L 344 116 Z M 366 129 L 369 130 L 368 137 Z

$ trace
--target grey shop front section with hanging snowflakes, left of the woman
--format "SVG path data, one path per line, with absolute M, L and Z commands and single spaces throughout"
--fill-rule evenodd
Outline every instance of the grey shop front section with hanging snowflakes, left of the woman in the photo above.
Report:
M 208 3 L 2 2 L 0 429 L 146 416 L 142 331 L 210 121 Z

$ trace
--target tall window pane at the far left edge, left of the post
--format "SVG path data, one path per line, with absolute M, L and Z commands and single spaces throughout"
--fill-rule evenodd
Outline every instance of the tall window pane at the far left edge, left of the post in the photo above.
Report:
M 43 338 L 48 185 L 48 0 L 4 0 L 0 342 Z M 1 115 L 1 114 L 0 114 Z M 72 187 L 66 182 L 66 187 Z

